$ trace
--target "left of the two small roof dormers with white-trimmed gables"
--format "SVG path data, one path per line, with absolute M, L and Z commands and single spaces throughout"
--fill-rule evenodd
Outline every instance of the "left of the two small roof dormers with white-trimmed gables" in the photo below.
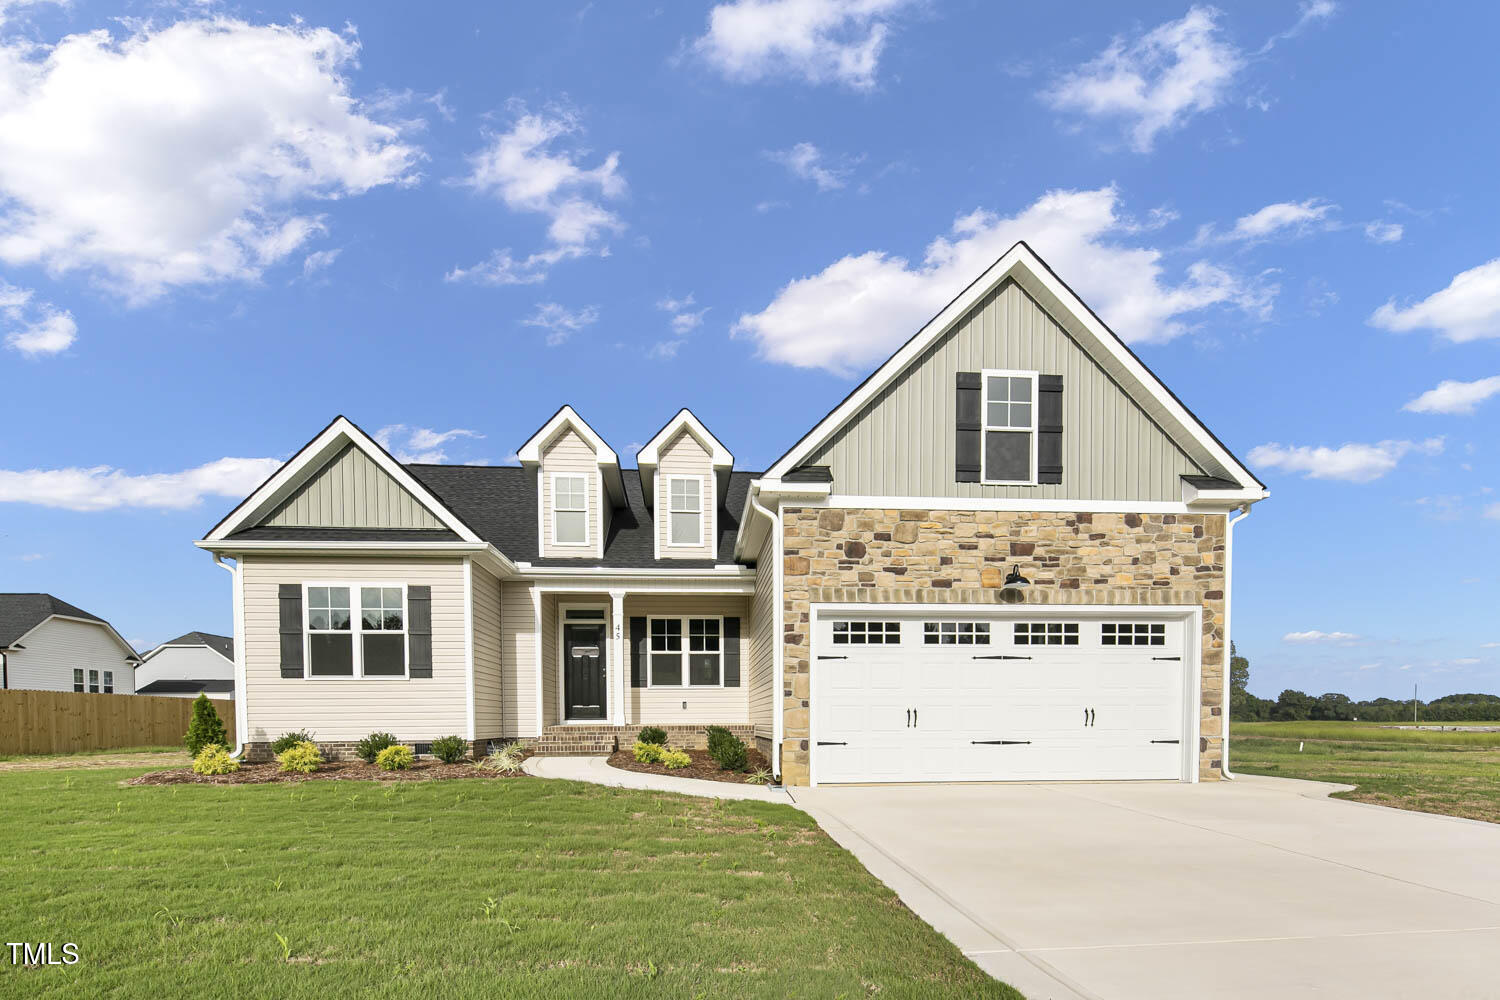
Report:
M 516 451 L 537 474 L 537 552 L 543 559 L 598 559 L 615 507 L 626 504 L 620 457 L 572 406 Z

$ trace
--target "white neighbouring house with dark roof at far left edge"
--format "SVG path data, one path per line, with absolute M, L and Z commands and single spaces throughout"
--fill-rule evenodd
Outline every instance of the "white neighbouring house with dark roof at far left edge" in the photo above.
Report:
M 51 594 L 0 594 L 0 688 L 134 694 L 140 660 L 98 615 Z

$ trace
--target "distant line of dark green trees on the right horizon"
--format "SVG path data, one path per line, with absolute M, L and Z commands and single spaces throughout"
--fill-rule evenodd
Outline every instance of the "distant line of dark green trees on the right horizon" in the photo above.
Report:
M 1372 699 L 1354 702 L 1347 694 L 1304 694 L 1287 688 L 1275 700 L 1256 697 L 1246 691 L 1250 660 L 1230 643 L 1228 717 L 1238 723 L 1296 723 L 1329 720 L 1362 723 L 1410 723 L 1412 699 Z M 1500 720 L 1500 696 L 1444 694 L 1431 702 L 1416 703 L 1416 717 L 1424 723 L 1478 723 Z

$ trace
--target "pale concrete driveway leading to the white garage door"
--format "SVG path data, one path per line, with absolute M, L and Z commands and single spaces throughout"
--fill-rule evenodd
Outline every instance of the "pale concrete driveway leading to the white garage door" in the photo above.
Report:
M 1338 786 L 794 789 L 1032 1000 L 1500 997 L 1500 826 Z

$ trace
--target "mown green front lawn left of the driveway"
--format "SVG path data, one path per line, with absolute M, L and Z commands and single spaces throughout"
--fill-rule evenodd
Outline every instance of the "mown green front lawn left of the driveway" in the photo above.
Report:
M 0 996 L 1018 997 L 790 807 L 138 772 L 0 775 Z

